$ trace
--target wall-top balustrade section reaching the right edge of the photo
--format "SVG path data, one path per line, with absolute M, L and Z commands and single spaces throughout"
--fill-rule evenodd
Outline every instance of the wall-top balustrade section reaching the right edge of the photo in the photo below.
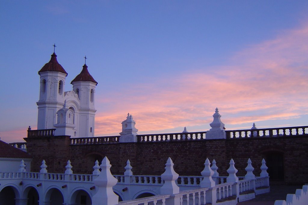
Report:
M 226 130 L 225 132 L 227 139 L 299 136 L 308 134 L 308 126 L 247 129 L 247 130 Z

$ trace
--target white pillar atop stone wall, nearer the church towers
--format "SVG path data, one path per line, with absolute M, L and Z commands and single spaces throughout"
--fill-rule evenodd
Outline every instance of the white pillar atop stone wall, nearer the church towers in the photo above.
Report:
M 126 120 L 122 122 L 119 142 L 137 142 L 138 129 L 135 128 L 135 124 L 133 116 L 128 113 Z

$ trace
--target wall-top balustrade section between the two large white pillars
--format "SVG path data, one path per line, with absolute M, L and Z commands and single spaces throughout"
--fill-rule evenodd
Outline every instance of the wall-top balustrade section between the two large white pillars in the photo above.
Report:
M 167 134 L 137 135 L 138 142 L 166 142 L 166 141 L 193 141 L 205 140 L 205 132 L 179 132 Z

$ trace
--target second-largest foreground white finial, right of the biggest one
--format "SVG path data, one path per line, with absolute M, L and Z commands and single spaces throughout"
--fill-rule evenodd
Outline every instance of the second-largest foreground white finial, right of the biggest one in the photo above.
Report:
M 179 178 L 179 174 L 174 171 L 174 164 L 170 157 L 165 165 L 165 172 L 161 174 L 161 179 L 164 180 L 164 185 L 160 187 L 160 194 L 178 194 L 180 193 L 180 188 L 176 185 L 175 180 Z

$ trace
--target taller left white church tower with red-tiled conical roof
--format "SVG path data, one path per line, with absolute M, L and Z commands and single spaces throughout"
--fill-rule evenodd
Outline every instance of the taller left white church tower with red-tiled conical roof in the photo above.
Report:
M 55 52 L 42 69 L 38 105 L 38 129 L 52 129 L 56 122 L 56 112 L 64 104 L 64 85 L 67 72 L 57 61 Z

